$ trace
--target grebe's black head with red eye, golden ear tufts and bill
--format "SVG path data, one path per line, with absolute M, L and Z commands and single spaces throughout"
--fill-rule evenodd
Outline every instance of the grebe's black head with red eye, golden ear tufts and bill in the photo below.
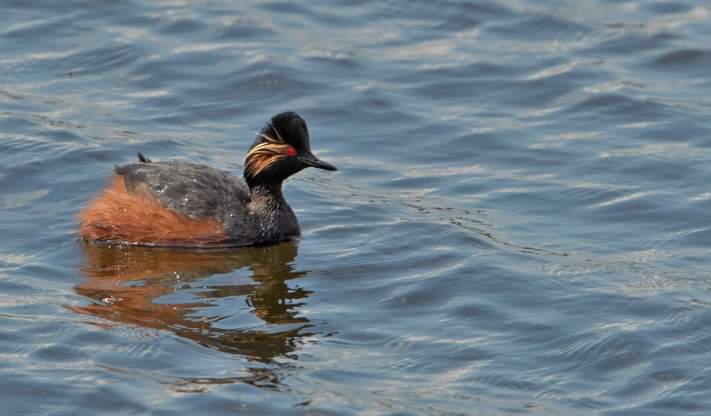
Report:
M 257 133 L 255 143 L 245 157 L 245 181 L 257 184 L 281 184 L 304 168 L 337 170 L 311 153 L 309 128 L 299 114 L 277 114 Z

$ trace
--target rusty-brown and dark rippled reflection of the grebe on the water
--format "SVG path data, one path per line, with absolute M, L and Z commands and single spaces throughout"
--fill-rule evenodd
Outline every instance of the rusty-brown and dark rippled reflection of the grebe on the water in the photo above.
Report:
M 173 332 L 208 348 L 262 363 L 273 363 L 274 358 L 292 353 L 302 336 L 311 335 L 304 333 L 312 326 L 309 319 L 297 316 L 298 308 L 305 305 L 303 300 L 311 292 L 287 285 L 287 280 L 306 274 L 291 266 L 296 258 L 294 242 L 200 251 L 107 244 L 85 244 L 82 248 L 80 274 L 87 280 L 77 285 L 76 291 L 94 302 L 70 307 L 73 312 Z M 200 283 L 212 275 L 242 268 L 252 273 L 249 283 Z M 159 299 L 181 290 L 190 290 L 193 301 L 164 303 Z M 266 325 L 220 328 L 218 322 L 235 314 L 210 316 L 210 307 L 218 306 L 216 302 L 227 297 L 237 299 L 223 300 L 219 306 L 234 301 L 235 307 L 230 310 L 241 313 L 245 307 L 238 298 L 244 297 L 250 312 Z M 264 370 L 255 368 L 260 373 Z M 273 378 L 274 374 L 254 376 Z

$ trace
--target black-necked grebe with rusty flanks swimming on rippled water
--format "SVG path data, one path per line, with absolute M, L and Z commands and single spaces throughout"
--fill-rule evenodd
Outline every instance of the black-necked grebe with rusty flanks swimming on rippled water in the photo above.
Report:
M 316 158 L 304 119 L 287 111 L 257 135 L 245 180 L 195 163 L 118 166 L 114 180 L 79 214 L 79 232 L 94 241 L 166 246 L 250 246 L 294 239 L 299 221 L 282 183 L 304 168 L 336 170 Z

